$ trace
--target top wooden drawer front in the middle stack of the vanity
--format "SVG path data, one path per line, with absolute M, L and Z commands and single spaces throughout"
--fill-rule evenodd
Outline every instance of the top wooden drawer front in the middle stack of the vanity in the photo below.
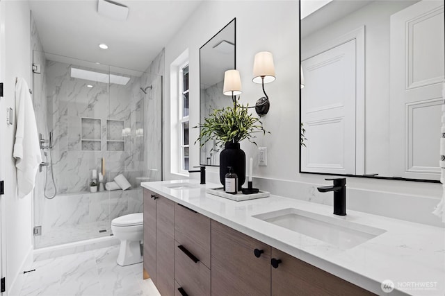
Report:
M 175 204 L 175 241 L 210 268 L 210 218 Z

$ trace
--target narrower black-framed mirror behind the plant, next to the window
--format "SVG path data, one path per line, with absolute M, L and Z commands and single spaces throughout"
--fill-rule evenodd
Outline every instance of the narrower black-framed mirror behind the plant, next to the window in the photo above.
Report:
M 214 109 L 232 104 L 223 95 L 224 72 L 236 69 L 236 19 L 232 19 L 200 48 L 200 123 Z M 200 148 L 200 165 L 219 166 L 222 146 L 208 141 Z

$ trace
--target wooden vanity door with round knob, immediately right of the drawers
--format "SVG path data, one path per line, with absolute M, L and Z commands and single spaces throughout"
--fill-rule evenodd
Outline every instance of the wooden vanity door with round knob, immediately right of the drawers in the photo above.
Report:
M 270 246 L 212 220 L 211 295 L 270 295 Z

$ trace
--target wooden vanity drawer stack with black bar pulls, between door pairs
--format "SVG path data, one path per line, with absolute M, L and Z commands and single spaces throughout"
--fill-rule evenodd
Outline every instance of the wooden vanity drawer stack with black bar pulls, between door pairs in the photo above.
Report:
M 175 295 L 210 295 L 211 220 L 175 204 Z

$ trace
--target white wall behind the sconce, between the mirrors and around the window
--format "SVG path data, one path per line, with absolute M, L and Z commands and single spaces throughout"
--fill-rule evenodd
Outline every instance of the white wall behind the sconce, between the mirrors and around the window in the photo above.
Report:
M 273 133 L 273 136 L 258 139 L 259 145 L 264 141 L 271 141 L 268 146 L 269 153 L 275 154 L 273 146 L 282 146 L 291 157 L 288 162 L 297 164 L 298 154 L 293 153 L 297 141 L 295 127 L 298 126 L 298 113 L 294 113 L 298 107 L 298 1 L 204 1 L 200 8 L 190 18 L 181 31 L 165 46 L 165 69 L 170 69 L 170 64 L 185 49 L 189 50 L 190 62 L 190 108 L 191 126 L 199 122 L 199 49 L 215 33 L 223 28 L 231 19 L 236 17 L 236 68 L 241 71 L 243 84 L 243 103 L 254 105 L 257 99 L 264 96 L 261 85 L 252 82 L 252 67 L 254 55 L 258 51 L 272 51 L 275 61 L 277 80 L 266 85 L 266 92 L 271 100 L 271 110 L 264 118 L 265 127 Z M 165 120 L 170 122 L 170 75 L 165 75 Z M 295 83 L 294 83 L 295 82 Z M 229 97 L 227 97 L 229 100 Z M 282 102 L 288 102 L 282 105 Z M 277 130 L 270 125 L 275 122 Z M 282 134 L 283 126 L 291 130 L 289 134 Z M 165 130 L 169 134 L 170 130 Z M 197 139 L 198 130 L 191 129 L 191 143 Z M 166 135 L 166 139 L 170 137 Z M 269 139 L 267 139 L 269 138 Z M 282 145 L 282 141 L 291 141 L 287 145 Z M 249 157 L 248 149 L 254 150 L 254 146 L 245 143 L 242 148 Z M 166 164 L 169 159 L 170 141 L 165 141 Z M 255 150 L 255 155 L 257 152 Z M 269 155 L 273 159 L 273 155 Z M 191 148 L 191 166 L 199 164 L 199 149 L 195 145 Z M 280 164 L 273 164 L 267 167 L 270 176 L 276 176 Z M 167 165 L 167 168 L 170 166 Z M 291 168 L 289 168 L 291 169 Z M 292 170 L 292 169 L 291 169 Z M 255 173 L 266 173 L 265 170 Z M 286 172 L 284 172 L 286 173 Z M 172 178 L 166 172 L 165 177 Z

